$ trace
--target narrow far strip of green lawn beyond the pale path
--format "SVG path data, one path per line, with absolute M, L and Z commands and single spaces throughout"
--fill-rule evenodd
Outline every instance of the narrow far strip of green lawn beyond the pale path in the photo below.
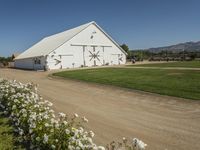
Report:
M 157 64 L 140 64 L 140 65 L 129 65 L 135 67 L 185 67 L 185 68 L 200 68 L 200 61 L 179 61 L 179 62 L 168 62 L 168 63 L 157 63 Z

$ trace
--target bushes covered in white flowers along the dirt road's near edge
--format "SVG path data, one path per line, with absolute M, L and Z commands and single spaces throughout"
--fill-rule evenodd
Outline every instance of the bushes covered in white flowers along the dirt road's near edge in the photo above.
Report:
M 92 131 L 84 130 L 82 124 L 88 122 L 85 117 L 78 114 L 69 117 L 64 113 L 55 116 L 52 105 L 37 93 L 37 86 L 0 79 L 0 108 L 12 121 L 19 141 L 30 149 L 105 149 L 93 142 Z M 145 146 L 138 139 L 134 139 L 131 147 L 125 144 L 125 148 L 136 150 L 143 150 Z M 107 146 L 107 149 L 113 148 L 119 149 Z

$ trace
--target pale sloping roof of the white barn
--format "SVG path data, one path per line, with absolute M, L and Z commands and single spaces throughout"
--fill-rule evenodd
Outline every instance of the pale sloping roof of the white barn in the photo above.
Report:
M 81 26 L 78 26 L 76 28 L 45 37 L 41 41 L 39 41 L 38 43 L 36 43 L 35 45 L 30 47 L 23 53 L 21 53 L 19 56 L 17 56 L 15 60 L 48 55 L 50 52 L 60 47 L 62 44 L 64 44 L 65 42 L 73 38 L 75 35 L 80 33 L 82 30 L 84 30 L 91 24 L 95 24 L 98 28 L 100 28 L 94 21 L 92 21 L 92 22 L 83 24 Z M 100 28 L 100 30 L 102 29 Z M 104 31 L 102 30 L 102 32 Z M 108 36 L 105 32 L 104 34 Z M 111 39 L 110 36 L 108 36 L 108 38 Z M 114 40 L 112 41 L 121 49 L 121 47 Z M 126 54 L 126 52 L 124 53 Z

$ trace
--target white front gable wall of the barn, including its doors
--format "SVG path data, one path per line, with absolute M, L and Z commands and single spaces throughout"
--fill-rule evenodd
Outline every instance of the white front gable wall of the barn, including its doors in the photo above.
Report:
M 95 58 L 94 58 L 95 57 Z M 124 64 L 126 54 L 96 23 L 49 53 L 49 68 Z

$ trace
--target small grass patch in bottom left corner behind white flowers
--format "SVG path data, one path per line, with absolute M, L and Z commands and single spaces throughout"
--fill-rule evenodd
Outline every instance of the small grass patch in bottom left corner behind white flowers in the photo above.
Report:
M 13 128 L 9 123 L 8 118 L 2 115 L 0 111 L 0 150 L 22 150 L 22 148 L 16 144 Z

